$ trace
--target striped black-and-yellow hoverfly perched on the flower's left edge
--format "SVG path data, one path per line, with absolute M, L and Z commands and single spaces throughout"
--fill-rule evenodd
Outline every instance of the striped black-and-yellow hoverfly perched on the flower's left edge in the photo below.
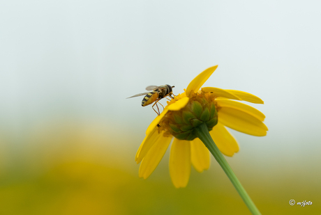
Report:
M 146 92 L 146 93 L 139 93 L 137 95 L 133 95 L 131 97 L 128 97 L 129 98 L 132 98 L 132 97 L 137 97 L 137 96 L 140 96 L 140 95 L 145 95 L 144 99 L 142 99 L 142 106 L 147 106 L 153 102 L 155 102 L 152 106 L 152 108 L 154 109 L 154 106 L 156 104 L 156 107 L 157 107 L 157 110 L 158 112 L 154 109 L 154 111 L 160 115 L 159 113 L 159 109 L 158 109 L 158 105 L 157 105 L 157 102 L 160 100 L 160 99 L 163 99 L 167 96 L 171 97 L 172 99 L 174 99 L 174 97 L 172 97 L 172 95 L 174 95 L 172 93 L 172 88 L 174 88 L 174 86 L 170 86 L 168 84 L 166 85 L 163 85 L 163 86 L 148 86 L 146 88 L 146 90 L 149 90 L 149 92 Z M 160 104 L 160 103 L 159 103 Z M 161 106 L 163 106 L 162 104 L 160 104 Z M 164 106 L 163 106 L 164 108 Z

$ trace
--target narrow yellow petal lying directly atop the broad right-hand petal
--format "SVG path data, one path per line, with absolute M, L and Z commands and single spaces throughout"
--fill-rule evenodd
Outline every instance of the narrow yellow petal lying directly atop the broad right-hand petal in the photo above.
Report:
M 264 121 L 264 114 L 261 111 L 258 111 L 257 109 L 253 108 L 252 106 L 249 106 L 247 104 L 243 104 L 240 102 L 235 102 L 229 99 L 215 99 L 218 106 L 225 106 L 225 107 L 231 107 L 234 109 L 239 109 L 240 111 L 244 111 L 246 113 L 251 114 L 252 116 L 255 116 L 257 119 Z

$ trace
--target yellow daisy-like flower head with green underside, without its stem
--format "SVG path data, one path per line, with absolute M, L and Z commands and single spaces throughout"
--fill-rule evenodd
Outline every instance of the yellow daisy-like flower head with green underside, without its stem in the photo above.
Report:
M 263 113 L 247 104 L 233 101 L 264 104 L 259 97 L 239 90 L 212 87 L 200 90 L 217 67 L 209 67 L 197 75 L 184 93 L 167 102 L 164 111 L 151 122 L 135 157 L 137 164 L 142 161 L 140 177 L 146 179 L 151 175 L 172 138 L 170 176 L 174 186 L 179 188 L 188 184 L 191 165 L 200 173 L 207 170 L 210 164 L 209 150 L 197 138 L 194 130 L 200 123 L 206 123 L 218 149 L 226 156 L 238 152 L 239 145 L 225 126 L 253 136 L 267 134 Z

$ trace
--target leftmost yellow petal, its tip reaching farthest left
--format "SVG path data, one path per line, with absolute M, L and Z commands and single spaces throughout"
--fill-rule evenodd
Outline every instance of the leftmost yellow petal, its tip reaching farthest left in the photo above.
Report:
M 160 134 L 163 134 L 163 133 L 160 133 Z M 137 150 L 137 153 L 136 153 L 135 161 L 137 164 L 140 164 L 140 161 L 142 161 L 142 159 L 147 154 L 149 149 L 154 145 L 157 139 L 161 136 L 160 134 L 158 134 L 158 128 L 154 127 L 154 129 L 145 136 L 144 141 L 142 141 L 142 144 L 140 144 L 140 148 Z

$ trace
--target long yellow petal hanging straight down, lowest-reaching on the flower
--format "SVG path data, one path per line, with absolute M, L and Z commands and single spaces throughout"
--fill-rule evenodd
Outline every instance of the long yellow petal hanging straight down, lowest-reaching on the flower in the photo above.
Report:
M 191 175 L 191 144 L 174 138 L 170 150 L 170 177 L 176 188 L 185 187 Z

